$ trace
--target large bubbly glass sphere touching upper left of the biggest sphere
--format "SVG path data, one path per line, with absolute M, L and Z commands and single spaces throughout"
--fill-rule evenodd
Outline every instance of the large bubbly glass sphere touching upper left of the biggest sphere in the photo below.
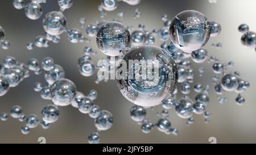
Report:
M 108 56 L 119 56 L 129 49 L 131 36 L 129 30 L 118 22 L 104 24 L 96 37 L 98 48 Z

